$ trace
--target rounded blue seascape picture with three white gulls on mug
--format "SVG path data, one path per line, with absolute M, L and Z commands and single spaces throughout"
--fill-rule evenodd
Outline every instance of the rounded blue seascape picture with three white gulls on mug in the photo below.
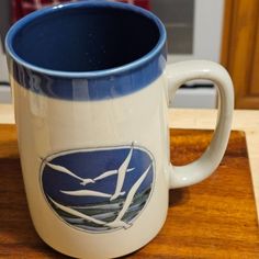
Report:
M 135 146 L 71 150 L 42 162 L 49 205 L 69 225 L 91 232 L 130 227 L 145 209 L 154 180 L 151 155 Z

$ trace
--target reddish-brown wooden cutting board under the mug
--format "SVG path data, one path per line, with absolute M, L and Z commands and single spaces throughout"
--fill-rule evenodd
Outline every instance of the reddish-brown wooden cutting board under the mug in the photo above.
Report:
M 174 165 L 196 159 L 211 131 L 171 131 Z M 0 125 L 0 258 L 67 258 L 35 233 L 22 182 L 15 128 Z M 246 138 L 232 132 L 225 157 L 207 180 L 170 191 L 165 226 L 126 258 L 259 258 L 259 232 Z

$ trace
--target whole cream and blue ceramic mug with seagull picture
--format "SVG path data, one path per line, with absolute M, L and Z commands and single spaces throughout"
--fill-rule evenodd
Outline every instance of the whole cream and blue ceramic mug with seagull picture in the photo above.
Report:
M 153 13 L 104 1 L 46 8 L 15 23 L 5 48 L 29 207 L 56 250 L 94 259 L 140 248 L 165 223 L 169 189 L 218 166 L 232 80 L 212 61 L 166 66 L 166 30 Z M 168 102 L 192 79 L 217 85 L 218 121 L 203 156 L 176 167 Z

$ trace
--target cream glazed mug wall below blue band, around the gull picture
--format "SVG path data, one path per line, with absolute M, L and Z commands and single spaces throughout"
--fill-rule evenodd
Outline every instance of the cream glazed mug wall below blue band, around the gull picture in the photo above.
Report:
M 132 252 L 157 235 L 168 210 L 169 143 L 164 83 L 160 76 L 132 94 L 112 101 L 89 102 L 52 99 L 13 83 L 30 212 L 38 235 L 49 246 L 77 258 L 111 258 Z M 150 193 L 131 226 L 94 232 L 69 224 L 54 211 L 42 187 L 43 159 L 66 153 L 131 148 L 132 144 L 134 150 L 143 149 L 150 156 L 154 176 Z M 87 172 L 85 177 L 88 177 Z M 94 185 L 80 185 L 80 180 L 78 183 L 80 190 Z M 113 211 L 112 205 L 105 213 L 110 211 Z

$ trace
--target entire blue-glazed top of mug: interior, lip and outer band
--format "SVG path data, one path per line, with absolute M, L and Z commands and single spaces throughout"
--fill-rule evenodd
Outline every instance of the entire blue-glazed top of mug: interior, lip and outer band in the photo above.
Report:
M 77 2 L 36 11 L 5 38 L 14 79 L 65 100 L 130 94 L 166 66 L 166 32 L 150 12 L 124 3 Z

